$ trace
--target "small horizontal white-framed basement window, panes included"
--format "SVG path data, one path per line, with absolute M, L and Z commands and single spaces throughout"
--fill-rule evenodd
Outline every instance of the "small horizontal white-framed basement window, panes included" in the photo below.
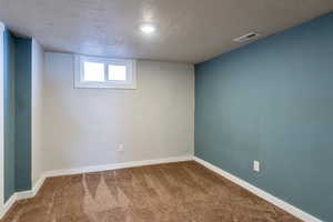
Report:
M 75 88 L 137 89 L 135 60 L 75 56 Z

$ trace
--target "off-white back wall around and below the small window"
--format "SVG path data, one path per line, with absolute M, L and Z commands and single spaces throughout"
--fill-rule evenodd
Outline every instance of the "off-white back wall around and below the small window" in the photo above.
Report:
M 44 171 L 193 154 L 193 65 L 139 60 L 137 90 L 74 89 L 73 67 L 46 53 Z

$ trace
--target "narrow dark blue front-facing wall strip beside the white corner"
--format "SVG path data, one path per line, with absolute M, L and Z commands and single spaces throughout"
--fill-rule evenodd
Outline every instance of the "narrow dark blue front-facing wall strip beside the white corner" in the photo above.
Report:
M 32 40 L 16 44 L 16 191 L 31 189 L 31 65 Z

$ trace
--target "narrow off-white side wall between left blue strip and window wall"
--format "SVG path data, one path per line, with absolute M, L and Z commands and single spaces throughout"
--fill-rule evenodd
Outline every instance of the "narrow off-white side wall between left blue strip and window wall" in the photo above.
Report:
M 43 64 L 44 52 L 40 44 L 32 40 L 32 67 L 31 67 L 31 164 L 32 164 L 32 186 L 41 178 L 42 171 L 42 87 L 43 87 Z

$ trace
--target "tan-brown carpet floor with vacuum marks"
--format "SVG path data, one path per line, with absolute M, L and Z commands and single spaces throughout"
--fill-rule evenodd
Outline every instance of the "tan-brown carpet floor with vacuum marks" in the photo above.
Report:
M 47 179 L 3 222 L 299 222 L 195 162 Z

